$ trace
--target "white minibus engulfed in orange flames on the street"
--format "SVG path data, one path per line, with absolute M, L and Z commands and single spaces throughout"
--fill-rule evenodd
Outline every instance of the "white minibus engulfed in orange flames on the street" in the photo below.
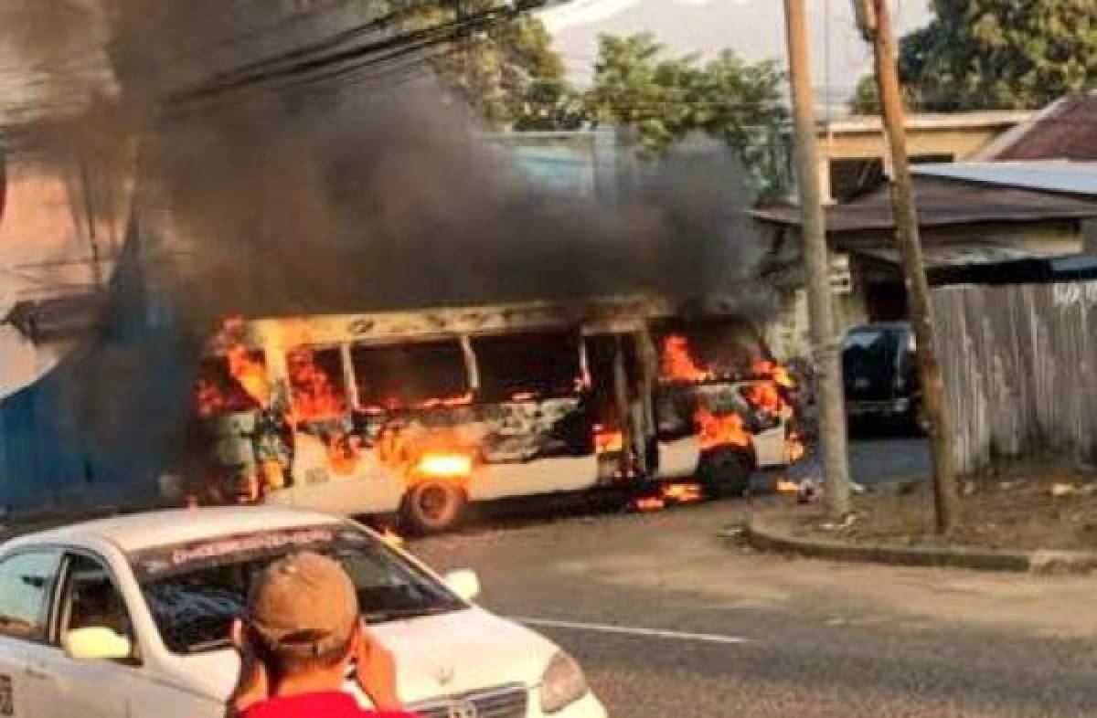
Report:
M 742 493 L 800 452 L 791 377 L 742 327 L 645 296 L 229 320 L 195 384 L 206 493 L 420 532 L 476 501 Z

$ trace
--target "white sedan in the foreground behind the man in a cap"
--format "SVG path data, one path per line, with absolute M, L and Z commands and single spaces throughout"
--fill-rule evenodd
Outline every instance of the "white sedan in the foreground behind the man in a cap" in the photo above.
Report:
M 4 544 L 0 716 L 220 718 L 239 670 L 229 622 L 251 578 L 306 548 L 347 568 L 423 718 L 606 717 L 566 653 L 470 603 L 474 573 L 441 579 L 355 523 L 273 508 L 152 512 Z

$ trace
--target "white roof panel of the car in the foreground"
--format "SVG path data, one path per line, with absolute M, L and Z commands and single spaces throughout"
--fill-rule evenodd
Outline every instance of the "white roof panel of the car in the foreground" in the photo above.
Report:
M 97 537 L 128 552 L 218 536 L 339 522 L 339 518 L 327 514 L 272 506 L 179 509 L 150 511 L 72 524 L 20 536 L 13 539 L 12 545 L 72 544 L 79 546 L 86 543 L 89 537 Z

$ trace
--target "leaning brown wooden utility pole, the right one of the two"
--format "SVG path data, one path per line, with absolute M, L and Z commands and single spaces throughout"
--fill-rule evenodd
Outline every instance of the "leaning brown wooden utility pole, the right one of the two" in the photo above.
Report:
M 858 26 L 872 43 L 877 59 L 877 84 L 883 116 L 887 150 L 891 156 L 891 195 L 896 237 L 903 254 L 906 276 L 907 311 L 918 351 L 921 402 L 929 423 L 934 460 L 934 509 L 937 532 L 948 533 L 957 518 L 957 480 L 952 466 L 945 378 L 937 358 L 934 322 L 929 305 L 929 283 L 921 257 L 918 210 L 911 183 L 911 162 L 906 151 L 906 118 L 898 81 L 897 52 L 887 0 L 853 0 Z

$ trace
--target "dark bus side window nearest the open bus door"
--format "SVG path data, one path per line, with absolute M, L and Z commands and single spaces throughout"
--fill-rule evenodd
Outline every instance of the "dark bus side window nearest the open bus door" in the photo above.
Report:
M 483 401 L 574 396 L 579 366 L 574 333 L 506 334 L 473 340 Z

